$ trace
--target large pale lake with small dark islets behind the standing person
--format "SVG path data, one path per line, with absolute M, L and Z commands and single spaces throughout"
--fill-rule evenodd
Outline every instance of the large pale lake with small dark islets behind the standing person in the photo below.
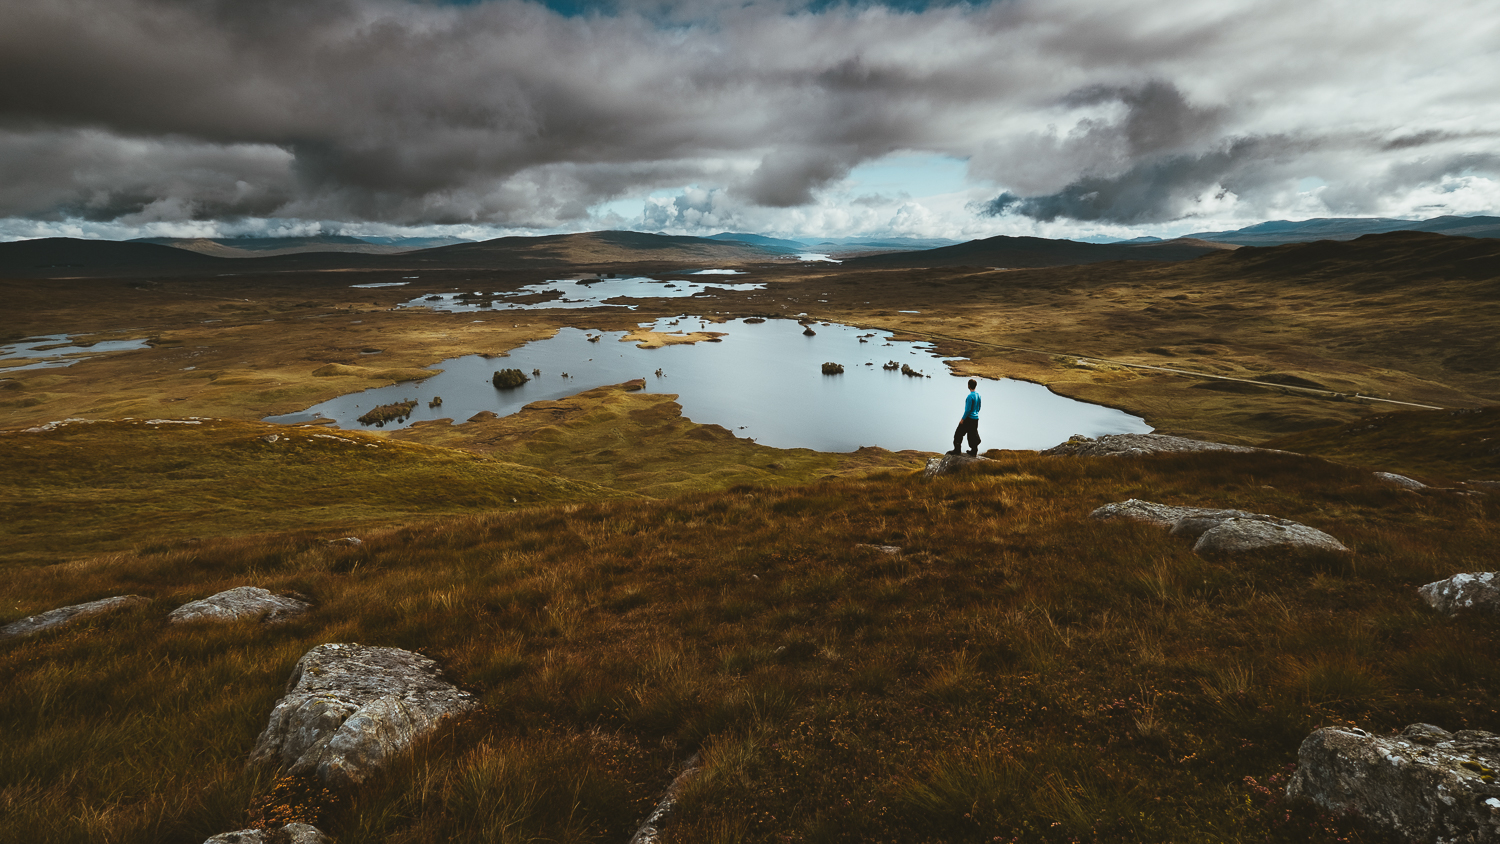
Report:
M 720 424 L 764 445 L 819 451 L 854 451 L 861 445 L 946 451 L 969 391 L 966 378 L 950 375 L 944 366 L 950 358 L 936 357 L 927 343 L 891 342 L 884 331 L 813 324 L 816 334 L 806 336 L 802 325 L 790 319 L 712 324 L 693 316 L 642 327 L 722 331 L 724 337 L 717 343 L 639 349 L 634 343 L 621 343 L 624 333 L 620 331 L 562 328 L 508 357 L 446 360 L 432 367 L 442 372 L 426 381 L 351 393 L 267 421 L 292 424 L 321 415 L 339 427 L 360 429 L 357 418 L 370 408 L 416 399 L 418 405 L 405 423 L 386 423 L 386 427 L 435 418 L 460 423 L 482 411 L 508 415 L 528 402 L 645 378 L 646 391 L 676 393 L 682 415 L 690 420 Z M 590 342 L 590 336 L 598 340 Z M 824 375 L 825 361 L 843 364 L 843 375 Z M 897 369 L 884 369 L 891 361 Z M 903 375 L 900 364 L 924 376 Z M 542 375 L 514 390 L 496 390 L 490 376 L 500 369 L 519 369 L 528 376 L 540 369 Z M 434 396 L 442 397 L 442 406 L 428 408 Z M 1047 448 L 1074 433 L 1152 430 L 1122 411 L 1064 399 L 1023 381 L 980 379 L 980 396 L 984 400 L 981 450 Z

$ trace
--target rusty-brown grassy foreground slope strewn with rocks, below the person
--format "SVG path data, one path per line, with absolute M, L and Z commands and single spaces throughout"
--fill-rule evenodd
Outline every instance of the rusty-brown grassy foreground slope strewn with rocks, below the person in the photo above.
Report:
M 1274 513 L 1356 553 L 1210 562 L 1088 520 L 1131 496 Z M 1500 621 L 1414 594 L 1492 561 L 1494 501 L 1294 456 L 1000 454 L 936 481 L 364 538 L 208 540 L 8 580 L 0 622 L 124 591 L 153 604 L 0 643 L 0 729 L 20 736 L 0 745 L 0 840 L 196 844 L 280 799 L 344 843 L 620 841 L 700 750 L 674 841 L 1371 841 L 1264 786 L 1310 730 L 1500 730 Z M 165 624 L 246 583 L 316 606 L 278 628 Z M 422 649 L 483 708 L 338 802 L 279 792 L 242 765 L 321 642 Z

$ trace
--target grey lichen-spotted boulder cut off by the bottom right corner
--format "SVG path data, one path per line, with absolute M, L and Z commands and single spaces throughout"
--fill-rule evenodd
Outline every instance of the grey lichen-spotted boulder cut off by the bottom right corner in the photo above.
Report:
M 1395 736 L 1328 727 L 1298 750 L 1287 798 L 1402 841 L 1500 843 L 1500 736 L 1412 724 Z

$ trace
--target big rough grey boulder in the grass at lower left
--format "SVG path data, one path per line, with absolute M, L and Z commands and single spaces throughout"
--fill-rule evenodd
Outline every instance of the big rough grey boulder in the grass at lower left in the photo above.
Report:
M 420 654 L 320 645 L 292 669 L 250 763 L 312 772 L 330 786 L 358 784 L 472 706 L 474 699 Z

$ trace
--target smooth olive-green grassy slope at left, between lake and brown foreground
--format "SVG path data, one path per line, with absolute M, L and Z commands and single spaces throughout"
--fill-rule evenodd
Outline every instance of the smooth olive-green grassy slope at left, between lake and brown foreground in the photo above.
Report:
M 0 433 L 0 564 L 632 493 L 363 432 L 230 420 Z

